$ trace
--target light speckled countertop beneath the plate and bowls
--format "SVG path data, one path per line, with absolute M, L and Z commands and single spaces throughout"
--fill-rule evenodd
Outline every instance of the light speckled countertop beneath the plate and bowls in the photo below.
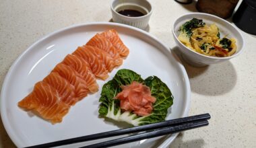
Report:
M 151 1 L 153 34 L 173 50 L 175 18 L 197 11 L 195 2 Z M 33 42 L 60 28 L 86 22 L 109 22 L 110 1 L 0 1 L 0 83 L 15 59 Z M 238 57 L 209 67 L 184 63 L 191 83 L 189 114 L 209 112 L 210 126 L 181 133 L 170 147 L 256 147 L 256 38 L 242 32 L 245 50 Z M 1 120 L 1 119 L 0 119 Z M 0 121 L 0 147 L 15 147 Z

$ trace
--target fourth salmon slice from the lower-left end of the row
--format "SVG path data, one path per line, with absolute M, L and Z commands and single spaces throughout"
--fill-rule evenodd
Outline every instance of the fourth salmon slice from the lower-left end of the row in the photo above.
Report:
M 104 65 L 103 61 L 96 55 L 92 54 L 92 52 L 87 52 L 83 46 L 79 46 L 72 54 L 84 59 L 90 65 L 92 73 L 94 73 L 96 77 L 103 80 L 108 78 L 106 65 Z

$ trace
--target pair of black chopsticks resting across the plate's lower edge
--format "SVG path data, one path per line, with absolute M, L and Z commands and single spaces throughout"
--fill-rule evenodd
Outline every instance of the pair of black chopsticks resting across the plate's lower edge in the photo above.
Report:
M 142 126 L 135 126 L 132 128 L 123 128 L 120 130 L 98 133 L 98 134 L 94 134 L 94 135 L 87 135 L 87 136 L 83 136 L 83 137 L 65 139 L 65 140 L 55 141 L 55 142 L 51 142 L 51 143 L 44 143 L 41 145 L 34 145 L 34 146 L 26 147 L 26 148 L 57 147 L 57 146 L 61 146 L 61 145 L 70 145 L 73 143 L 81 143 L 84 141 L 92 141 L 92 140 L 96 140 L 96 139 L 103 139 L 103 138 L 107 138 L 107 137 L 115 137 L 115 136 L 119 136 L 119 135 L 125 135 L 125 134 L 137 133 L 137 132 L 144 131 L 144 133 L 131 135 L 128 137 L 123 137 L 123 138 L 114 139 L 114 140 L 110 140 L 110 141 L 105 141 L 102 143 L 96 143 L 93 145 L 85 146 L 83 148 L 86 148 L 86 147 L 90 147 L 90 148 L 111 147 L 111 146 L 115 146 L 115 145 L 131 143 L 133 141 L 139 141 L 139 140 L 143 140 L 143 139 L 159 137 L 159 136 L 168 135 L 168 134 L 172 134 L 172 133 L 179 133 L 181 131 L 186 131 L 186 130 L 190 130 L 193 128 L 199 128 L 201 126 L 207 126 L 209 124 L 209 122 L 207 120 L 210 118 L 211 118 L 210 114 L 199 114 L 196 116 L 188 116 L 185 118 L 166 120 L 166 121 L 157 122 L 154 124 L 146 124 L 146 125 L 142 125 Z

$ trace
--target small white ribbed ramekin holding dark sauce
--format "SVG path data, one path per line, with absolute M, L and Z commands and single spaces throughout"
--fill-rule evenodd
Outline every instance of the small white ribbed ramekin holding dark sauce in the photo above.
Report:
M 118 13 L 120 7 L 125 5 L 133 6 L 132 9 L 137 11 L 145 11 L 146 15 L 140 17 L 128 17 Z M 127 7 L 128 9 L 131 7 Z M 113 22 L 127 24 L 136 28 L 145 29 L 150 21 L 152 14 L 152 5 L 146 0 L 114 0 L 111 4 Z

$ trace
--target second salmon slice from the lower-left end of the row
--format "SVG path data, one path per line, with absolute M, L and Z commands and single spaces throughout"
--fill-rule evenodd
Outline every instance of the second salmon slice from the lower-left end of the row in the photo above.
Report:
M 75 87 L 67 81 L 67 79 L 61 77 L 59 73 L 52 72 L 42 81 L 49 83 L 52 87 L 57 89 L 61 101 L 69 106 L 77 102 L 75 98 Z

